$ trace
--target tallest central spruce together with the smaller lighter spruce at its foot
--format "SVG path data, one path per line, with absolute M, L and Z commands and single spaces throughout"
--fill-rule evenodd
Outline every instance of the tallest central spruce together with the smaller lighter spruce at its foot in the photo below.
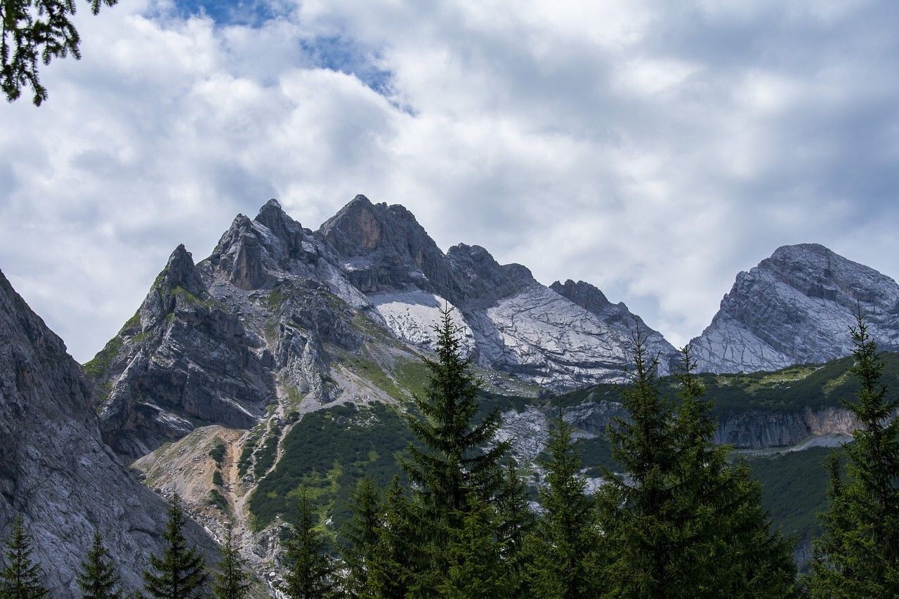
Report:
M 427 392 L 414 396 L 421 416 L 408 417 L 421 446 L 409 443 L 401 461 L 412 491 L 411 589 L 417 596 L 509 596 L 516 580 L 506 550 L 513 532 L 501 503 L 510 486 L 500 462 L 510 445 L 494 439 L 498 410 L 476 422 L 478 381 L 462 357 L 450 311 L 441 310 L 436 327 L 436 360 L 425 360 Z

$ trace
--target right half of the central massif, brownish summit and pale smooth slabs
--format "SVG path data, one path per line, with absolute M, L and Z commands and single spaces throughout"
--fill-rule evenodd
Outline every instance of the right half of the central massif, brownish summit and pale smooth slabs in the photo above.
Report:
M 552 389 L 622 380 L 638 322 L 623 305 L 593 313 L 535 281 L 521 264 L 498 264 L 480 246 L 459 244 L 444 255 L 408 210 L 364 196 L 317 234 L 334 248 L 334 264 L 346 279 L 407 343 L 433 343 L 423 317 L 431 316 L 425 308 L 436 298 L 458 309 L 471 353 L 483 366 Z M 653 343 L 665 356 L 660 372 L 667 373 L 673 348 L 657 333 Z

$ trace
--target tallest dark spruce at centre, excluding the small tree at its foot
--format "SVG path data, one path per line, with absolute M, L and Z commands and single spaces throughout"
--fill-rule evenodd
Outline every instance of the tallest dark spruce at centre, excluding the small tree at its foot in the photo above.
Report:
M 430 384 L 424 397 L 414 397 L 423 416 L 408 418 L 423 447 L 410 443 L 409 459 L 401 461 L 414 499 L 408 519 L 414 537 L 410 543 L 414 552 L 411 592 L 417 596 L 437 595 L 437 589 L 447 584 L 452 563 L 446 547 L 472 525 L 467 515 L 475 506 L 498 509 L 498 497 L 506 484 L 501 461 L 508 455 L 510 443 L 494 441 L 498 411 L 474 422 L 478 381 L 468 371 L 469 360 L 462 356 L 461 328 L 451 311 L 441 309 L 441 324 L 435 327 L 437 359 L 425 360 Z M 488 443 L 492 446 L 485 449 Z M 496 517 L 489 522 L 494 529 L 479 530 L 492 542 L 500 542 L 503 523 Z

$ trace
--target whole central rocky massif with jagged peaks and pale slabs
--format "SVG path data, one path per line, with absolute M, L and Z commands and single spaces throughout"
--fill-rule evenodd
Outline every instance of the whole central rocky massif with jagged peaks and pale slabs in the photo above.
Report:
M 294 402 L 300 411 L 389 399 L 341 356 L 392 347 L 391 363 L 418 362 L 444 306 L 456 308 L 478 366 L 544 388 L 621 380 L 636 326 L 663 373 L 674 355 L 586 283 L 547 288 L 479 246 L 444 254 L 402 206 L 360 195 L 314 232 L 272 200 L 255 219 L 238 215 L 199 264 L 177 247 L 138 312 L 85 365 L 103 438 L 136 459 L 198 426 L 250 428 L 286 397 L 306 401 Z

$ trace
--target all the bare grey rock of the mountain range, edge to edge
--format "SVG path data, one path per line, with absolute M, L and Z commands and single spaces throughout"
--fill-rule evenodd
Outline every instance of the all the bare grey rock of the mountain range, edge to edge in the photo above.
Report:
M 343 427 L 335 431 L 344 422 L 393 422 L 381 407 L 402 411 L 422 388 L 441 308 L 453 308 L 485 389 L 512 408 L 503 412 L 503 434 L 515 436 L 527 460 L 542 448 L 547 414 L 525 398 L 623 381 L 637 330 L 660 374 L 678 364 L 663 335 L 591 284 L 544 286 L 525 266 L 498 264 L 480 246 L 444 253 L 411 212 L 364 196 L 316 231 L 271 200 L 254 219 L 238 215 L 200 262 L 178 246 L 134 316 L 83 371 L 0 283 L 0 515 L 7 528 L 23 511 L 43 527 L 39 558 L 54 564 L 50 576 L 68 589 L 94 529 L 123 531 L 113 554 L 134 562 L 127 575 L 134 585 L 158 548 L 165 504 L 138 483 L 135 469 L 158 494 L 186 496 L 217 534 L 222 513 L 207 498 L 218 493 L 237 518 L 245 555 L 276 579 L 279 524 L 262 526 L 262 512 L 250 517 L 261 501 L 256 488 L 287 476 L 290 434 L 312 422 L 309 414 L 330 410 Z M 714 373 L 827 362 L 850 353 L 859 309 L 881 349 L 899 349 L 892 279 L 823 246 L 784 246 L 737 275 L 690 345 L 699 371 Z M 594 393 L 566 416 L 587 436 L 601 435 L 619 409 L 608 389 Z M 345 406 L 357 416 L 344 415 Z M 834 407 L 773 420 L 753 410 L 723 420 L 721 440 L 759 449 L 806 434 L 845 435 L 852 425 Z M 12 423 L 28 424 L 17 424 L 19 433 Z M 225 457 L 213 461 L 217 444 Z M 123 465 L 131 462 L 135 469 Z M 217 472 L 224 483 L 214 482 Z M 48 485 L 54 490 L 40 490 Z M 83 488 L 95 496 L 76 490 Z M 212 551 L 199 528 L 194 538 Z

